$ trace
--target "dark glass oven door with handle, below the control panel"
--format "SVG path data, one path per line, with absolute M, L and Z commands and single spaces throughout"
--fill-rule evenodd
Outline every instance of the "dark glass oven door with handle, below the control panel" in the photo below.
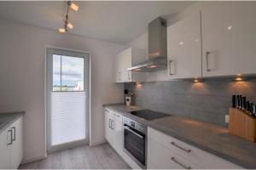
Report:
M 145 134 L 124 125 L 124 150 L 140 167 L 145 167 Z

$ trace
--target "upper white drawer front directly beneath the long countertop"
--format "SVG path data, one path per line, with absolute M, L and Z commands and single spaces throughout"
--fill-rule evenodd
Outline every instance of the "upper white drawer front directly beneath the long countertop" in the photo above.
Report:
M 157 143 L 164 145 L 169 150 L 176 152 L 179 156 L 183 156 L 203 168 L 242 168 L 230 161 L 225 161 L 218 156 L 214 156 L 190 144 L 160 133 L 150 127 L 148 127 L 148 138 L 154 139 Z

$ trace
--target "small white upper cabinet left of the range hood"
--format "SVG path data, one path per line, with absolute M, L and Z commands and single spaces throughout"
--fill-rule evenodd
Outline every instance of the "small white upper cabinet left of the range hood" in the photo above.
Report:
M 143 72 L 128 71 L 133 65 L 146 60 L 145 51 L 139 48 L 126 48 L 116 55 L 114 59 L 114 82 L 143 82 Z

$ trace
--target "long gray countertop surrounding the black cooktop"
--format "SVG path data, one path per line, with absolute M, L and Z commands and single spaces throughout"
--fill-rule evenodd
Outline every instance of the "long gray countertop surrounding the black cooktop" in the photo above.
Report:
M 146 121 L 129 114 L 129 111 L 142 110 L 143 107 L 121 104 L 103 106 L 241 167 L 256 168 L 256 144 L 230 134 L 227 128 L 180 116 Z

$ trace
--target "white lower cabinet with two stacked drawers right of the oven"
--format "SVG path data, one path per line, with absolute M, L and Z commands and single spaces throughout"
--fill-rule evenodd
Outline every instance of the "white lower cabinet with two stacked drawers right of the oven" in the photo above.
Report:
M 148 127 L 148 168 L 242 167 Z

